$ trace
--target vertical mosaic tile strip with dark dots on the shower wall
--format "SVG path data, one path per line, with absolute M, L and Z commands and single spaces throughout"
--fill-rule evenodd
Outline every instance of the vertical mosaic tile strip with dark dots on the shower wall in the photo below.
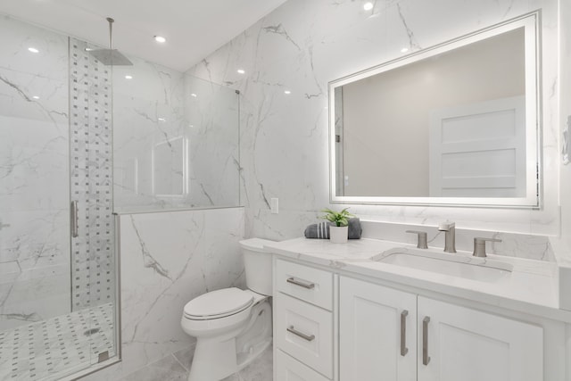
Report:
M 111 69 L 70 39 L 71 200 L 78 202 L 79 236 L 72 238 L 73 311 L 112 302 Z

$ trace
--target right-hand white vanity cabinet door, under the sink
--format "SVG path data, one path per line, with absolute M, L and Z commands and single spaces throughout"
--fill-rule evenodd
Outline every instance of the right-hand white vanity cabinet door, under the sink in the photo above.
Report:
M 543 379 L 543 330 L 418 296 L 418 381 Z

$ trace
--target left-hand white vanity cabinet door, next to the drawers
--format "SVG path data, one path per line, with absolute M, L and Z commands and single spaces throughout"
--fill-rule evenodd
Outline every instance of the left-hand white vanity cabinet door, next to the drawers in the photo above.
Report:
M 339 290 L 341 381 L 416 380 L 417 296 L 350 277 Z

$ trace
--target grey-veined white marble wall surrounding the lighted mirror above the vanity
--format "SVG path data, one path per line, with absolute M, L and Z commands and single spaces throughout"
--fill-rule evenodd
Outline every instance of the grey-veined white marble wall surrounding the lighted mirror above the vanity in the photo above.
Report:
M 539 211 L 494 208 L 363 206 L 385 222 L 533 235 L 559 233 L 558 20 L 555 0 L 290 0 L 187 73 L 230 84 L 241 95 L 241 165 L 246 235 L 301 236 L 329 205 L 327 83 L 409 52 L 542 9 L 542 170 Z M 245 76 L 236 69 L 246 71 Z M 291 94 L 285 94 L 285 90 Z M 269 213 L 278 197 L 280 213 Z M 341 205 L 333 205 L 340 207 Z

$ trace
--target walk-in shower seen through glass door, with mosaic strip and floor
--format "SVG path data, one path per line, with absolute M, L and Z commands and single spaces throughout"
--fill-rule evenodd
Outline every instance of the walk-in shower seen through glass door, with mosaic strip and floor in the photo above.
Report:
M 0 16 L 0 380 L 117 358 L 112 68 Z

